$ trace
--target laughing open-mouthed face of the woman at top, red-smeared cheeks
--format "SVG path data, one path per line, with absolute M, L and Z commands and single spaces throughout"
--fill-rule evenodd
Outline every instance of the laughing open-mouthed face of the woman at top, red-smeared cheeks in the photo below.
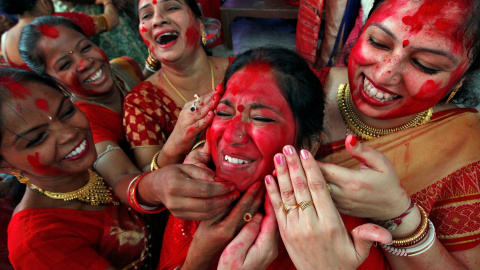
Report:
M 203 50 L 202 21 L 184 0 L 140 0 L 138 10 L 140 35 L 157 59 L 173 62 Z

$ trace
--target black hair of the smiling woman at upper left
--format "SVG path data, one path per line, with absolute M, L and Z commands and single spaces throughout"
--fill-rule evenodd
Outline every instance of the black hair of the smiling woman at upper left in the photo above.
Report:
M 43 37 L 41 29 L 42 26 L 57 26 L 62 25 L 71 28 L 84 35 L 82 29 L 73 23 L 71 20 L 60 16 L 41 16 L 35 18 L 31 23 L 27 24 L 20 35 L 18 42 L 18 51 L 23 62 L 29 68 L 42 76 L 47 76 L 45 73 L 45 57 L 38 50 L 38 41 Z

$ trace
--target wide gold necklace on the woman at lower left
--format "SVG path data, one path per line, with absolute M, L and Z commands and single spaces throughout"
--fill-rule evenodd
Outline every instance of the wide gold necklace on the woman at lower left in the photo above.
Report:
M 113 200 L 112 193 L 107 189 L 103 178 L 93 170 L 88 170 L 88 172 L 90 173 L 90 178 L 85 186 L 65 193 L 44 190 L 32 184 L 28 177 L 19 173 L 12 174 L 17 177 L 19 182 L 26 184 L 31 190 L 55 200 L 77 201 L 89 205 L 119 205 L 118 202 Z

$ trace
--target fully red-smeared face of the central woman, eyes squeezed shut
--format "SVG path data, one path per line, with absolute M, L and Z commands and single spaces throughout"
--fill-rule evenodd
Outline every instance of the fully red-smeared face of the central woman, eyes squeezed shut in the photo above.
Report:
M 268 65 L 249 65 L 230 78 L 207 140 L 216 175 L 239 191 L 272 173 L 274 155 L 294 143 L 295 120 Z

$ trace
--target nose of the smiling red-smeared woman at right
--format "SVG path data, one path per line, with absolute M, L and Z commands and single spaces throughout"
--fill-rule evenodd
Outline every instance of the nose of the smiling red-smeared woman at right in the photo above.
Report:
M 384 85 L 399 83 L 402 78 L 402 62 L 399 55 L 383 58 L 373 72 L 375 83 Z

